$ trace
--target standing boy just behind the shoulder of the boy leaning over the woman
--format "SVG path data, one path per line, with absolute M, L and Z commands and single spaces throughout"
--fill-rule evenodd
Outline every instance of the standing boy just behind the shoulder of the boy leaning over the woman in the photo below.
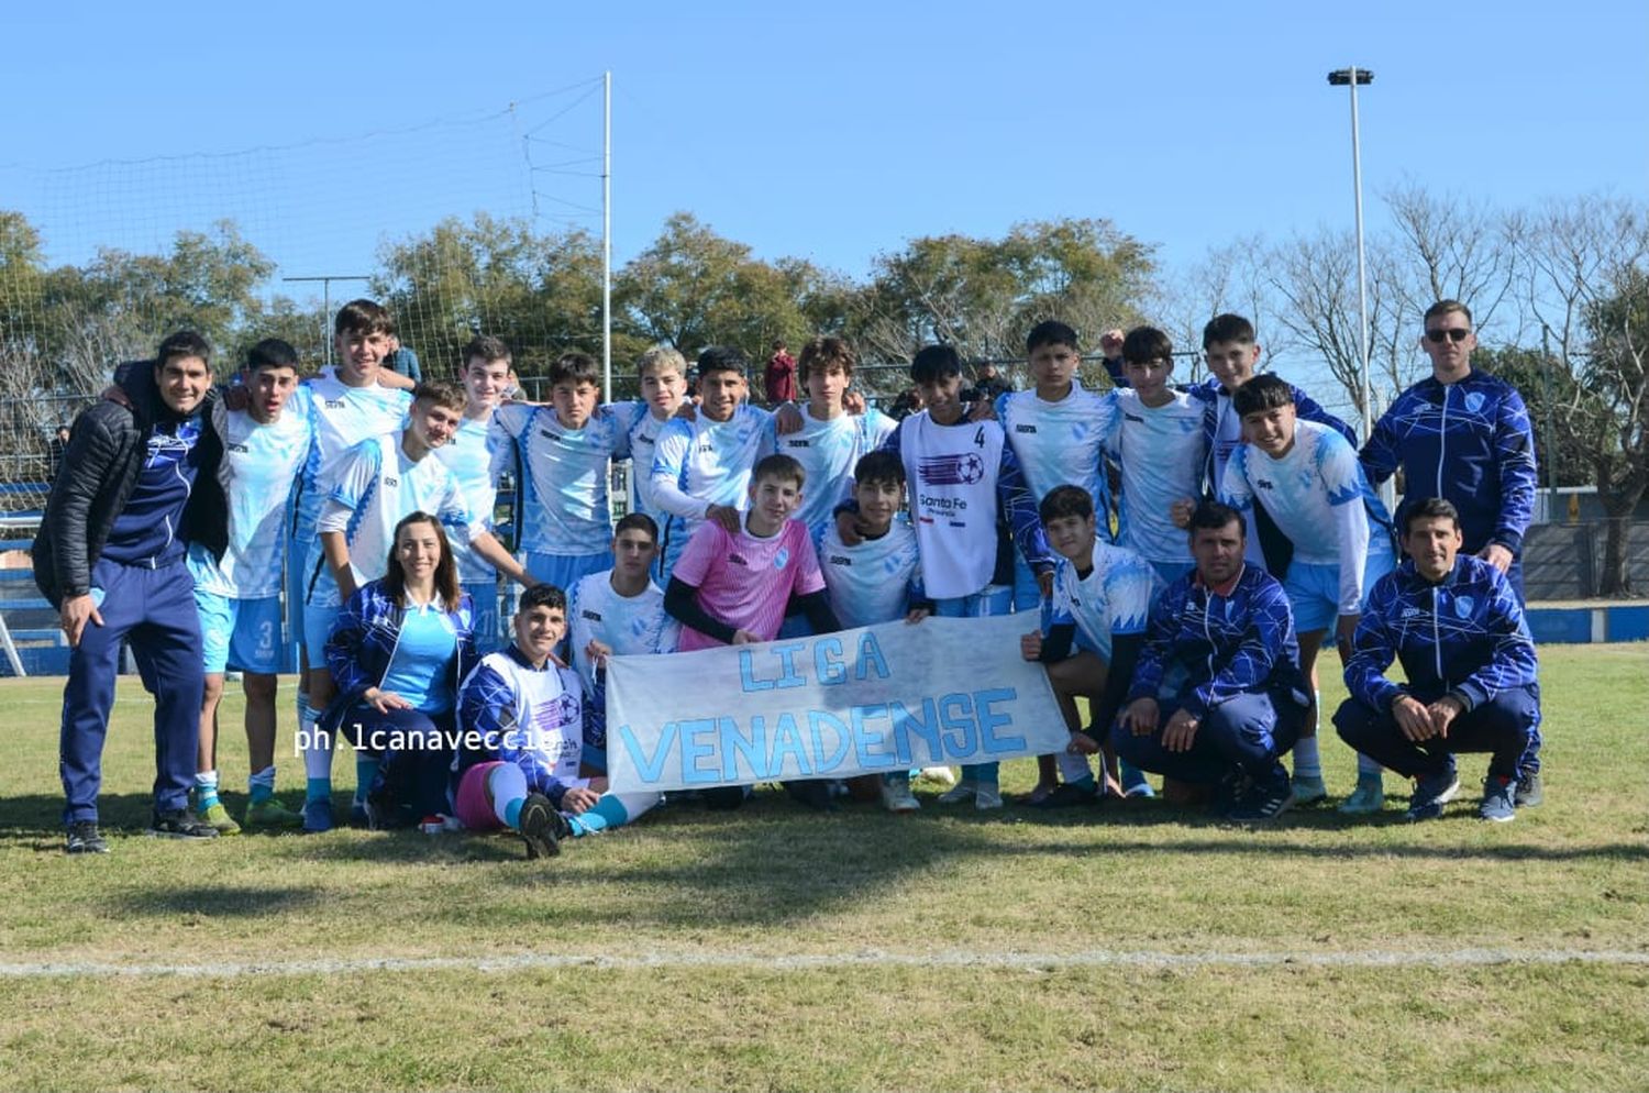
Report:
M 498 485 L 493 460 L 493 410 L 514 387 L 510 346 L 500 338 L 477 336 L 463 346 L 463 417 L 447 443 L 435 448 L 435 458 L 447 465 L 470 513 L 488 529 L 493 526 Z M 458 564 L 458 582 L 475 607 L 475 650 L 483 656 L 498 650 L 503 628 L 498 623 L 498 570 L 470 549 L 465 529 L 453 529 L 452 556 Z

